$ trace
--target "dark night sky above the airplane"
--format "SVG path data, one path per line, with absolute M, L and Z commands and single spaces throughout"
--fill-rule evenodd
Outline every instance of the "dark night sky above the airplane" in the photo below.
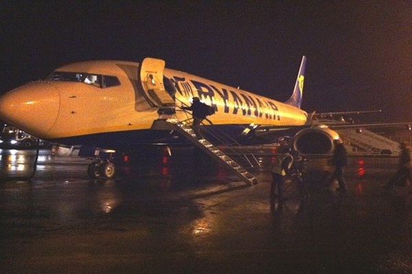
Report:
M 303 108 L 412 121 L 412 1 L 1 1 L 0 93 L 82 60 L 166 66 Z M 55 3 L 58 2 L 58 3 Z

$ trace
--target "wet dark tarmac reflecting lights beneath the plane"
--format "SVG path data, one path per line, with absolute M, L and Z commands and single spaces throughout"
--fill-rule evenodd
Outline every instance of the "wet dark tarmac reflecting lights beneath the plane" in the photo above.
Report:
M 92 180 L 88 160 L 41 151 L 22 180 L 6 177 L 30 174 L 34 151 L 1 151 L 0 273 L 412 273 L 411 187 L 380 188 L 396 158 L 351 158 L 349 190 L 312 178 L 306 203 L 288 184 L 271 212 L 270 156 L 244 187 L 194 154 Z

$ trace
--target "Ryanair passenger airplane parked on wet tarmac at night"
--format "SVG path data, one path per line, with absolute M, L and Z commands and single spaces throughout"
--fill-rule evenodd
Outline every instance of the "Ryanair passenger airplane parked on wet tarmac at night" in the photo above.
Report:
M 166 69 L 165 61 L 155 58 L 76 62 L 1 96 L 0 119 L 49 142 L 127 149 L 171 141 L 173 131 L 159 130 L 155 121 L 187 119 L 180 109 L 198 97 L 215 110 L 207 127 L 240 127 L 239 136 L 295 128 L 297 151 L 308 153 L 306 147 L 314 142 L 319 151 L 311 153 L 331 153 L 339 134 L 301 110 L 305 72 L 303 56 L 293 93 L 282 103 Z

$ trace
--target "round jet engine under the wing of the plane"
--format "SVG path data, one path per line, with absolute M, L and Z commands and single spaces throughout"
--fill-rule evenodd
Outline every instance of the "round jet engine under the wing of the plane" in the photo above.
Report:
M 330 154 L 333 140 L 340 140 L 339 134 L 326 125 L 302 129 L 293 137 L 293 148 L 303 154 Z

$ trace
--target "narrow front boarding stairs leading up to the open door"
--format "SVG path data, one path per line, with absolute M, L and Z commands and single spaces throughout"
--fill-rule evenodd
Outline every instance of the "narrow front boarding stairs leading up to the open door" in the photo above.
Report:
M 244 169 L 238 162 L 230 158 L 226 153 L 221 151 L 216 145 L 212 144 L 206 138 L 198 138 L 194 133 L 192 125 L 189 121 L 177 121 L 176 119 L 158 119 L 153 123 L 152 128 L 161 129 L 169 128 L 179 132 L 182 136 L 185 136 L 187 140 L 201 151 L 204 151 L 212 159 L 222 163 L 227 169 L 233 171 L 233 174 L 237 175 L 247 185 L 257 184 L 258 179 L 253 176 L 249 171 Z

